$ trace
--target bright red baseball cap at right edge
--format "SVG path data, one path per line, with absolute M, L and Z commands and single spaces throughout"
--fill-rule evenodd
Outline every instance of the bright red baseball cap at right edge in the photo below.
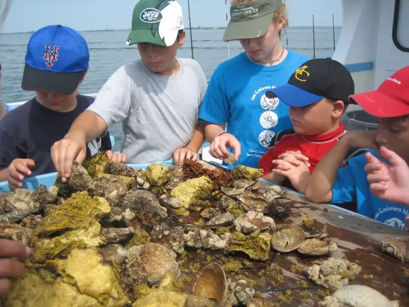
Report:
M 409 114 L 409 66 L 382 82 L 376 91 L 349 96 L 376 117 L 398 117 Z

